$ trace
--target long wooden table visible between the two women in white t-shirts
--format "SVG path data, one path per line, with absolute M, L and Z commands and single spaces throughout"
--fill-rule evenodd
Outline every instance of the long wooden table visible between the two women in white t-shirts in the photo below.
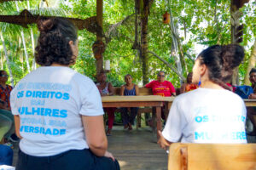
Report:
M 147 96 L 104 96 L 102 97 L 103 107 L 154 107 L 156 112 L 152 115 L 153 133 L 159 135 L 158 130 L 162 130 L 161 107 L 164 103 L 172 103 L 173 97 L 161 97 L 156 95 Z M 156 122 L 156 123 L 155 123 Z M 156 126 L 155 126 L 156 125 Z M 155 129 L 156 127 L 156 129 Z

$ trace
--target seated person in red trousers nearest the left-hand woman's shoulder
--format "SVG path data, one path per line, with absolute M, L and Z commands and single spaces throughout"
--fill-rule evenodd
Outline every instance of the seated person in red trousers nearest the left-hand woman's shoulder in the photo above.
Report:
M 101 96 L 113 95 L 113 86 L 111 82 L 107 82 L 107 76 L 105 71 L 102 71 L 97 75 L 96 87 L 99 89 Z M 107 131 L 108 136 L 111 135 L 115 109 L 116 109 L 115 107 L 104 108 L 104 111 L 108 113 L 108 131 Z

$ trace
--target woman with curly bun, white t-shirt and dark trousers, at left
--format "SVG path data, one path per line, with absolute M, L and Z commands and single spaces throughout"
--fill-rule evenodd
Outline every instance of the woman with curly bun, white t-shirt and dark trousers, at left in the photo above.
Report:
M 108 152 L 101 96 L 94 82 L 69 68 L 79 54 L 77 28 L 63 19 L 38 21 L 42 65 L 11 93 L 20 152 L 16 169 L 119 169 Z

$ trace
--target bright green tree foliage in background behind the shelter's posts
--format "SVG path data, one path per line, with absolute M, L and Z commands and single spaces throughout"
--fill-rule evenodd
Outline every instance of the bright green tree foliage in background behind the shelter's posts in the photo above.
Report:
M 79 19 L 86 19 L 96 15 L 95 0 L 69 0 L 59 3 L 59 8 L 39 8 L 40 1 L 30 0 L 32 14 L 67 16 Z M 60 1 L 59 1 L 60 2 Z M 103 29 L 108 32 L 113 24 L 124 20 L 125 17 L 134 14 L 134 1 L 127 0 L 107 0 L 103 1 Z M 19 2 L 20 11 L 27 8 L 26 1 Z M 52 3 L 54 5 L 58 3 Z M 51 3 L 49 4 L 51 5 Z M 162 23 L 162 14 L 167 10 L 166 0 L 154 1 L 150 8 L 148 18 L 148 50 L 158 54 L 170 65 L 176 67 L 176 59 L 171 54 L 172 36 L 170 26 Z M 185 62 L 189 71 L 192 70 L 194 60 L 201 44 L 204 47 L 213 44 L 230 43 L 230 0 L 170 0 L 170 7 L 174 22 L 178 29 Z M 243 45 L 246 48 L 246 58 L 240 66 L 239 74 L 241 82 L 245 77 L 247 69 L 247 59 L 249 58 L 250 48 L 255 41 L 256 35 L 256 3 L 247 3 L 241 8 L 241 23 L 244 24 Z M 1 14 L 19 14 L 16 11 L 15 2 L 0 3 Z M 108 42 L 104 59 L 111 61 L 111 71 L 108 73 L 108 80 L 114 86 L 124 84 L 124 76 L 131 74 L 135 83 L 142 85 L 142 59 L 136 49 L 131 49 L 135 41 L 135 14 L 124 24 L 118 26 L 112 31 L 111 41 Z M 139 20 L 139 18 L 138 18 Z M 29 64 L 33 62 L 33 50 L 30 30 L 33 36 L 38 37 L 38 30 L 35 25 L 28 29 L 20 26 L 0 23 L 0 31 L 3 32 L 4 41 L 8 48 L 10 66 L 13 71 L 15 82 L 26 76 L 26 60 L 24 57 L 24 48 L 20 39 L 20 31 L 25 32 L 26 48 L 29 54 Z M 140 34 L 140 25 L 138 25 L 138 34 Z M 186 35 L 186 36 L 185 36 Z M 140 36 L 137 37 L 140 41 Z M 105 41 L 105 39 L 103 39 Z M 96 35 L 89 31 L 79 31 L 79 56 L 73 69 L 92 78 L 96 81 L 96 59 L 93 56 L 91 47 L 96 41 Z M 0 54 L 3 60 L 3 69 L 7 70 L 4 52 L 0 43 Z M 149 79 L 154 80 L 158 71 L 166 71 L 167 80 L 171 81 L 175 87 L 180 86 L 179 77 L 169 67 L 163 64 L 153 55 L 148 54 L 149 60 Z M 184 77 L 186 77 L 184 73 Z

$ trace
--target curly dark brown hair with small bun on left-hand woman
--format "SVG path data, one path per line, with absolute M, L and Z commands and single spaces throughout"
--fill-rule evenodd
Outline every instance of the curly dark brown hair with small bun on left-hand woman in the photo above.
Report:
M 35 59 L 38 65 L 49 66 L 53 63 L 72 65 L 75 63 L 69 42 L 78 39 L 78 29 L 69 20 L 61 18 L 40 18 L 38 20 L 38 45 Z

